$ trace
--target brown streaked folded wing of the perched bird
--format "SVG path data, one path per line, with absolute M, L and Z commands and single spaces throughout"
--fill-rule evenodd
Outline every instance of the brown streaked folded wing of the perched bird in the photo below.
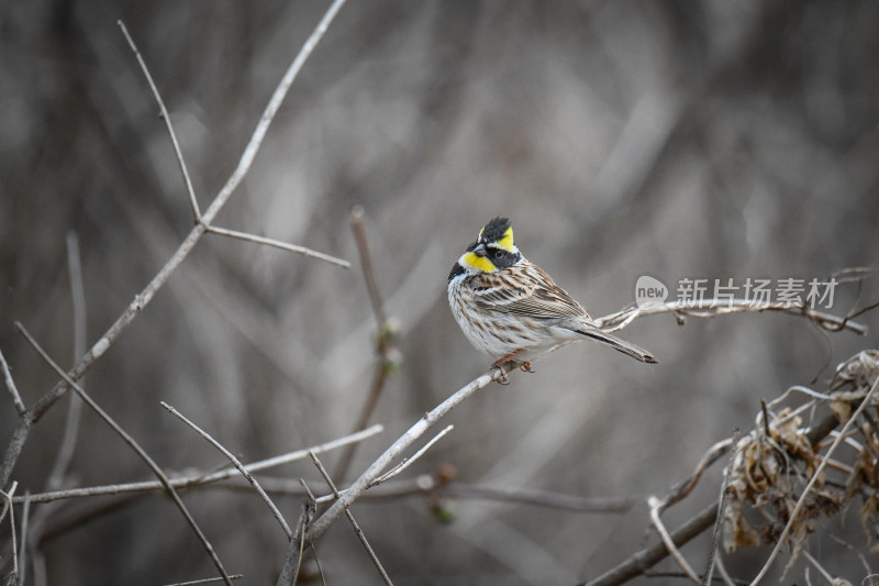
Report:
M 481 309 L 537 319 L 588 317 L 549 275 L 525 259 L 499 273 L 481 275 L 475 294 Z

